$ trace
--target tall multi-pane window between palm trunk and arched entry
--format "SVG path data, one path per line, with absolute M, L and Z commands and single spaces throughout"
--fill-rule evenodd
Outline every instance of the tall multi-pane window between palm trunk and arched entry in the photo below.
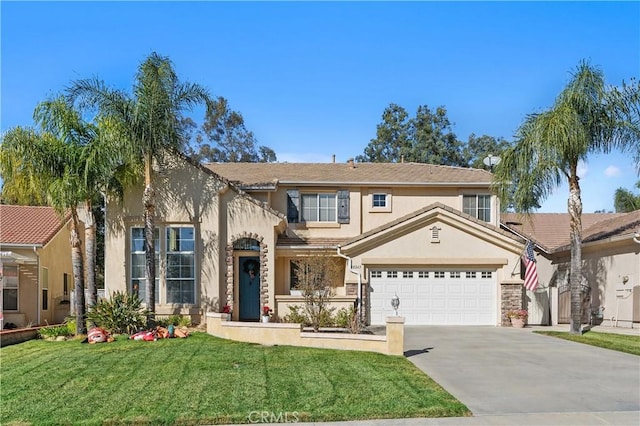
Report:
M 194 304 L 196 299 L 195 237 L 191 226 L 168 227 L 167 303 Z

